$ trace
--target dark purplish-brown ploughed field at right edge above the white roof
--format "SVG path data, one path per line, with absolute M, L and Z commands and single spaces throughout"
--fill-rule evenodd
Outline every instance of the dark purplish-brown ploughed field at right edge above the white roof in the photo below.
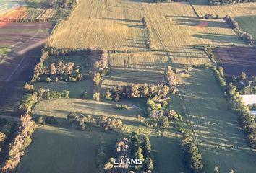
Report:
M 255 47 L 215 48 L 214 51 L 221 59 L 228 81 L 231 81 L 233 76 L 239 76 L 242 71 L 247 74 L 247 78 L 256 76 Z

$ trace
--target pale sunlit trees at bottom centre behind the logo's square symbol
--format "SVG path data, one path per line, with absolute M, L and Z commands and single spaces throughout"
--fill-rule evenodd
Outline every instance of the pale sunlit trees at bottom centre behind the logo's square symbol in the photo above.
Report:
M 116 142 L 115 146 L 115 158 L 122 159 L 126 161 L 130 156 L 130 148 L 131 148 L 131 139 L 121 138 Z M 129 164 L 121 163 L 114 164 L 114 158 L 111 157 L 108 159 L 108 162 L 104 165 L 103 170 L 105 173 L 128 173 L 129 172 Z

